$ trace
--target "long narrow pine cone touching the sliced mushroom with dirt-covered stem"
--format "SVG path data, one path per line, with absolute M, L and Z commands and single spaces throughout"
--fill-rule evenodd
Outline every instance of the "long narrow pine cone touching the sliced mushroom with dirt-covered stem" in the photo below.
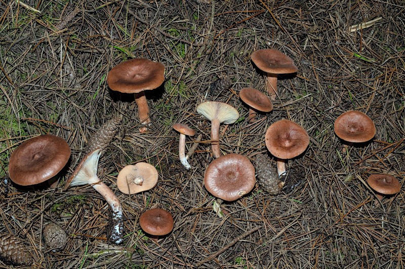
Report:
M 116 116 L 111 120 L 104 123 L 89 139 L 89 143 L 86 147 L 85 152 L 91 152 L 98 148 L 105 150 L 110 144 L 111 140 L 114 138 L 116 132 L 118 131 L 119 124 L 123 118 Z

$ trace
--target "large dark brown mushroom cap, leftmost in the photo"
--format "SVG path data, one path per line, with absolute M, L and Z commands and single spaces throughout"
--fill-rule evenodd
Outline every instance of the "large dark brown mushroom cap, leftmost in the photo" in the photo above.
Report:
M 39 135 L 21 143 L 10 156 L 10 179 L 21 186 L 44 182 L 62 170 L 70 158 L 63 138 Z

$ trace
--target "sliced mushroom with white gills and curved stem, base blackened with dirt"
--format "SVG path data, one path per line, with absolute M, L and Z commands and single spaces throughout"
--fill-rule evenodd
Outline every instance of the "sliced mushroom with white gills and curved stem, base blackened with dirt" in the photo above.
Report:
M 72 175 L 67 179 L 64 190 L 69 187 L 90 184 L 98 193 L 100 193 L 112 209 L 112 221 L 114 224 L 110 235 L 110 241 L 114 244 L 123 242 L 124 223 L 123 209 L 121 203 L 115 194 L 102 182 L 97 176 L 98 161 L 101 154 L 101 148 L 87 153 Z

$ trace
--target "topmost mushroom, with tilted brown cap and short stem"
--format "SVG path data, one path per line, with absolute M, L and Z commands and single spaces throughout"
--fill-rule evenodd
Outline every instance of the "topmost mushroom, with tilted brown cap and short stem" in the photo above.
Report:
M 295 73 L 298 70 L 290 57 L 272 48 L 254 51 L 251 59 L 260 70 L 267 73 L 267 91 L 273 101 L 277 96 L 277 75 Z

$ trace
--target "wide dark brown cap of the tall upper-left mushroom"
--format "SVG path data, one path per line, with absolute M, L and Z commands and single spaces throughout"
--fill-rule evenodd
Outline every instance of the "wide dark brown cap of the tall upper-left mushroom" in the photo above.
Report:
M 148 59 L 131 59 L 114 66 L 107 75 L 108 86 L 124 93 L 152 90 L 165 81 L 165 66 Z

